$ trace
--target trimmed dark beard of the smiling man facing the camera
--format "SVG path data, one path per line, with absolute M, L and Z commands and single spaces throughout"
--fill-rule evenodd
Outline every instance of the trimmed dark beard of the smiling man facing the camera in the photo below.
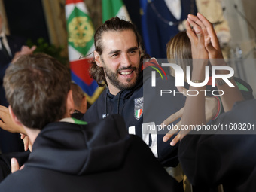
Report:
M 105 71 L 106 77 L 111 81 L 111 84 L 114 85 L 114 87 L 117 87 L 118 90 L 130 90 L 133 88 L 139 78 L 139 72 L 141 72 L 141 66 L 139 66 L 139 69 L 136 67 L 125 67 L 122 69 L 118 69 L 117 72 L 112 72 L 111 69 L 108 69 L 105 65 L 103 66 L 103 69 Z M 126 70 L 126 69 L 132 69 L 133 72 L 136 74 L 135 78 L 127 79 L 126 82 L 127 84 L 123 84 L 118 80 L 118 75 L 121 70 Z

